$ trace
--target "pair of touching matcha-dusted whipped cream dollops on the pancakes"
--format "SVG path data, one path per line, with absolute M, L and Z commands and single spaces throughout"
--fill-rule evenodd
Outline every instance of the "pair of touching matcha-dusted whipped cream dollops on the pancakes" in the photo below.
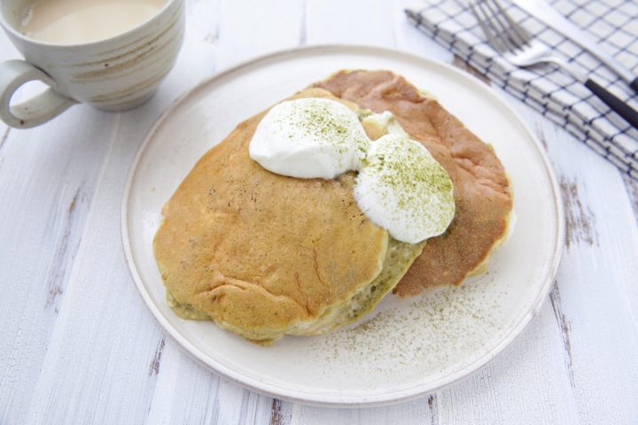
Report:
M 394 120 L 391 112 L 363 120 L 385 130 L 372 141 L 346 105 L 306 97 L 276 104 L 257 126 L 249 155 L 276 174 L 333 179 L 358 171 L 354 199 L 394 239 L 418 243 L 445 232 L 455 215 L 445 169 Z

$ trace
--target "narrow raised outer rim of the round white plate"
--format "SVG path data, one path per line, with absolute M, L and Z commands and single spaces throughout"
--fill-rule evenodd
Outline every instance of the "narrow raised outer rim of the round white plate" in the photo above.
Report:
M 554 205 L 556 207 L 556 240 L 554 243 L 554 255 L 551 259 L 551 263 L 548 267 L 548 273 L 545 276 L 545 282 L 541 286 L 536 298 L 528 308 L 527 313 L 512 327 L 510 332 L 493 347 L 489 348 L 483 355 L 474 359 L 470 364 L 463 367 L 463 369 L 455 372 L 454 374 L 442 376 L 439 379 L 429 383 L 427 385 L 416 385 L 408 389 L 393 390 L 383 394 L 377 394 L 372 396 L 346 396 L 346 395 L 313 395 L 304 394 L 306 397 L 300 396 L 300 391 L 285 389 L 280 386 L 273 385 L 271 383 L 263 383 L 252 377 L 247 377 L 240 372 L 237 372 L 230 367 L 225 367 L 215 359 L 210 358 L 206 353 L 198 349 L 198 347 L 191 343 L 185 336 L 177 331 L 176 328 L 171 325 L 167 318 L 159 311 L 159 308 L 152 301 L 150 293 L 145 289 L 144 282 L 141 275 L 137 271 L 135 259 L 133 258 L 133 252 L 131 250 L 131 243 L 128 237 L 128 198 L 130 196 L 130 190 L 132 188 L 134 177 L 136 174 L 137 166 L 140 158 L 144 154 L 147 145 L 151 142 L 152 137 L 157 133 L 159 128 L 164 124 L 167 118 L 172 112 L 184 104 L 191 96 L 196 96 L 198 91 L 204 88 L 206 85 L 213 83 L 216 80 L 220 80 L 232 73 L 237 73 L 250 66 L 259 65 L 261 62 L 267 63 L 270 60 L 295 56 L 298 54 L 312 54 L 312 53 L 364 53 L 368 55 L 378 55 L 380 57 L 399 57 L 408 59 L 410 61 L 421 62 L 424 66 L 439 66 L 443 67 L 449 73 L 455 74 L 462 80 L 478 88 L 484 92 L 486 96 L 492 97 L 497 104 L 500 104 L 513 117 L 517 120 L 517 124 L 522 128 L 526 135 L 532 140 L 533 147 L 541 157 L 542 165 L 545 168 L 545 172 L 549 177 L 551 185 L 551 191 L 553 195 Z M 159 118 L 153 123 L 152 127 L 147 131 L 144 136 L 144 141 L 140 144 L 136 151 L 136 155 L 133 158 L 130 166 L 128 167 L 128 174 L 122 192 L 121 197 L 121 211 L 120 211 L 120 228 L 121 228 L 121 242 L 125 254 L 126 263 L 128 266 L 128 272 L 136 283 L 137 291 L 144 299 L 144 303 L 151 310 L 151 313 L 155 317 L 155 320 L 159 322 L 162 328 L 171 336 L 177 344 L 181 346 L 184 352 L 186 352 L 192 359 L 196 359 L 201 365 L 214 372 L 214 374 L 222 377 L 223 379 L 248 389 L 267 395 L 272 398 L 279 398 L 285 401 L 293 403 L 301 403 L 309 406 L 323 406 L 323 407 L 372 407 L 372 406 L 385 406 L 395 403 L 401 403 L 409 401 L 415 398 L 420 398 L 426 394 L 435 390 L 446 388 L 450 385 L 467 379 L 478 370 L 486 367 L 492 360 L 494 360 L 501 352 L 503 352 L 510 344 L 512 344 L 518 336 L 521 335 L 523 329 L 532 320 L 532 318 L 540 311 L 552 282 L 556 278 L 556 273 L 560 264 L 560 260 L 564 251 L 564 239 L 565 239 L 565 223 L 564 223 L 564 205 L 562 202 L 559 185 L 556 179 L 556 174 L 551 166 L 547 151 L 542 147 L 541 142 L 536 135 L 533 134 L 531 128 L 527 125 L 521 115 L 508 104 L 502 97 L 501 93 L 494 90 L 493 87 L 486 85 L 482 81 L 469 74 L 464 73 L 462 70 L 455 68 L 447 63 L 441 62 L 433 58 L 425 58 L 423 56 L 416 55 L 415 53 L 408 52 L 406 50 L 389 49 L 384 47 L 370 46 L 370 45 L 358 45 L 358 44 L 318 44 L 311 46 L 298 46 L 290 49 L 276 50 L 264 55 L 249 58 L 245 61 L 238 63 L 237 65 L 224 68 L 219 72 L 213 73 L 209 77 L 206 77 L 202 81 L 199 81 L 191 89 L 187 89 L 181 96 L 177 97 L 175 101 L 167 106 L 167 109 L 159 115 Z M 542 278 L 541 278 L 542 279 Z

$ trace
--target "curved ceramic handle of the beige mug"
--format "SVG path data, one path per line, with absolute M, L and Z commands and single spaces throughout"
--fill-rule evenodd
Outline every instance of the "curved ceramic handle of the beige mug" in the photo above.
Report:
M 13 105 L 13 94 L 28 81 L 42 81 L 51 87 L 40 95 Z M 13 128 L 33 128 L 57 117 L 76 104 L 70 97 L 60 95 L 54 88 L 55 81 L 43 70 L 20 59 L 0 64 L 0 118 Z

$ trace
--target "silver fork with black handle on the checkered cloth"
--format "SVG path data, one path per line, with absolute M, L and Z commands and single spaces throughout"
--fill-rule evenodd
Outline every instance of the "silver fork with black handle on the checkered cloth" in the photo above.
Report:
M 577 81 L 582 82 L 596 97 L 599 97 L 634 128 L 638 128 L 638 112 L 603 86 L 587 78 L 564 58 L 556 56 L 546 44 L 534 39 L 525 31 L 525 28 L 511 19 L 498 0 L 473 0 L 470 7 L 487 41 L 511 64 L 521 68 L 544 63 L 559 66 Z

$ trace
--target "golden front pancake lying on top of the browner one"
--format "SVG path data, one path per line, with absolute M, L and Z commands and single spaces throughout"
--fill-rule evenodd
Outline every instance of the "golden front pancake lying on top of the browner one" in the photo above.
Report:
M 297 97 L 336 97 L 307 89 Z M 164 206 L 153 242 L 176 313 L 261 344 L 355 321 L 393 289 L 423 249 L 362 213 L 354 173 L 273 174 L 248 156 L 266 112 L 200 158 Z

